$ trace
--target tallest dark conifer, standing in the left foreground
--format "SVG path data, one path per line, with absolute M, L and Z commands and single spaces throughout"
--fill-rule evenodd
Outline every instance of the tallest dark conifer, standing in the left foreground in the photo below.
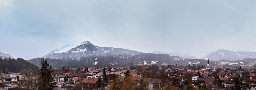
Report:
M 47 60 L 42 58 L 40 65 L 42 66 L 39 70 L 39 78 L 38 78 L 38 89 L 39 90 L 52 90 L 53 87 L 56 87 L 56 83 L 52 83 L 53 78 L 52 74 L 52 66 L 49 65 Z

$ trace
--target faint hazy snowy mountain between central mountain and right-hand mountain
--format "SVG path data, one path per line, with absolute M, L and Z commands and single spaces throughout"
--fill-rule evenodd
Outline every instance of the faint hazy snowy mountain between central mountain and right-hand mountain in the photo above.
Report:
M 159 54 L 159 53 L 160 54 L 168 54 L 170 56 L 179 56 L 179 57 L 182 57 L 182 58 L 197 59 L 195 56 L 190 56 L 190 55 L 182 54 L 180 52 L 169 53 L 169 52 L 155 51 L 155 52 L 152 52 L 152 53 L 155 53 L 155 54 Z

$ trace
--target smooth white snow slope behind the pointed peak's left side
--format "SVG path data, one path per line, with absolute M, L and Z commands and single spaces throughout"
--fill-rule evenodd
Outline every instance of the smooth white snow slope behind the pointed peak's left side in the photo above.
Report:
M 63 45 L 63 46 L 61 46 L 60 48 L 55 49 L 55 50 L 53 50 L 52 52 L 50 52 L 50 53 L 44 55 L 43 57 L 47 57 L 47 56 L 49 56 L 49 55 L 52 55 L 53 53 L 67 52 L 68 50 L 70 50 L 71 48 L 74 48 L 74 47 L 76 47 L 76 45 L 70 45 L 70 44 L 68 44 L 68 45 Z

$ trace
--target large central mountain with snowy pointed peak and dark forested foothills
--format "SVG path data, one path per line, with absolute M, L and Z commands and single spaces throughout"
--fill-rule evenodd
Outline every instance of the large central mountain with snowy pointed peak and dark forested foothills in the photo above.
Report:
M 74 48 L 72 48 L 74 47 Z M 71 49 L 70 49 L 71 48 Z M 69 49 L 69 50 L 68 50 Z M 61 51 L 61 52 L 60 52 Z M 64 45 L 44 56 L 53 67 L 92 66 L 92 65 L 130 65 L 133 64 L 179 64 L 187 65 L 188 59 L 167 54 L 143 53 L 122 48 L 99 47 L 89 41 L 80 45 Z M 42 58 L 28 62 L 39 65 Z M 182 62 L 181 62 L 182 61 Z M 185 62 L 183 62 L 185 61 Z

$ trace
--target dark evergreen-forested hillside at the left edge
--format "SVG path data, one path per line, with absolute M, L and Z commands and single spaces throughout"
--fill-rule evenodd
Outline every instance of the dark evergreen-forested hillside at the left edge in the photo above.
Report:
M 8 72 L 14 72 L 19 73 L 23 69 L 36 69 L 37 66 L 27 62 L 24 59 L 17 58 L 17 59 L 11 59 L 9 58 L 3 58 L 0 56 L 0 72 L 8 73 Z

